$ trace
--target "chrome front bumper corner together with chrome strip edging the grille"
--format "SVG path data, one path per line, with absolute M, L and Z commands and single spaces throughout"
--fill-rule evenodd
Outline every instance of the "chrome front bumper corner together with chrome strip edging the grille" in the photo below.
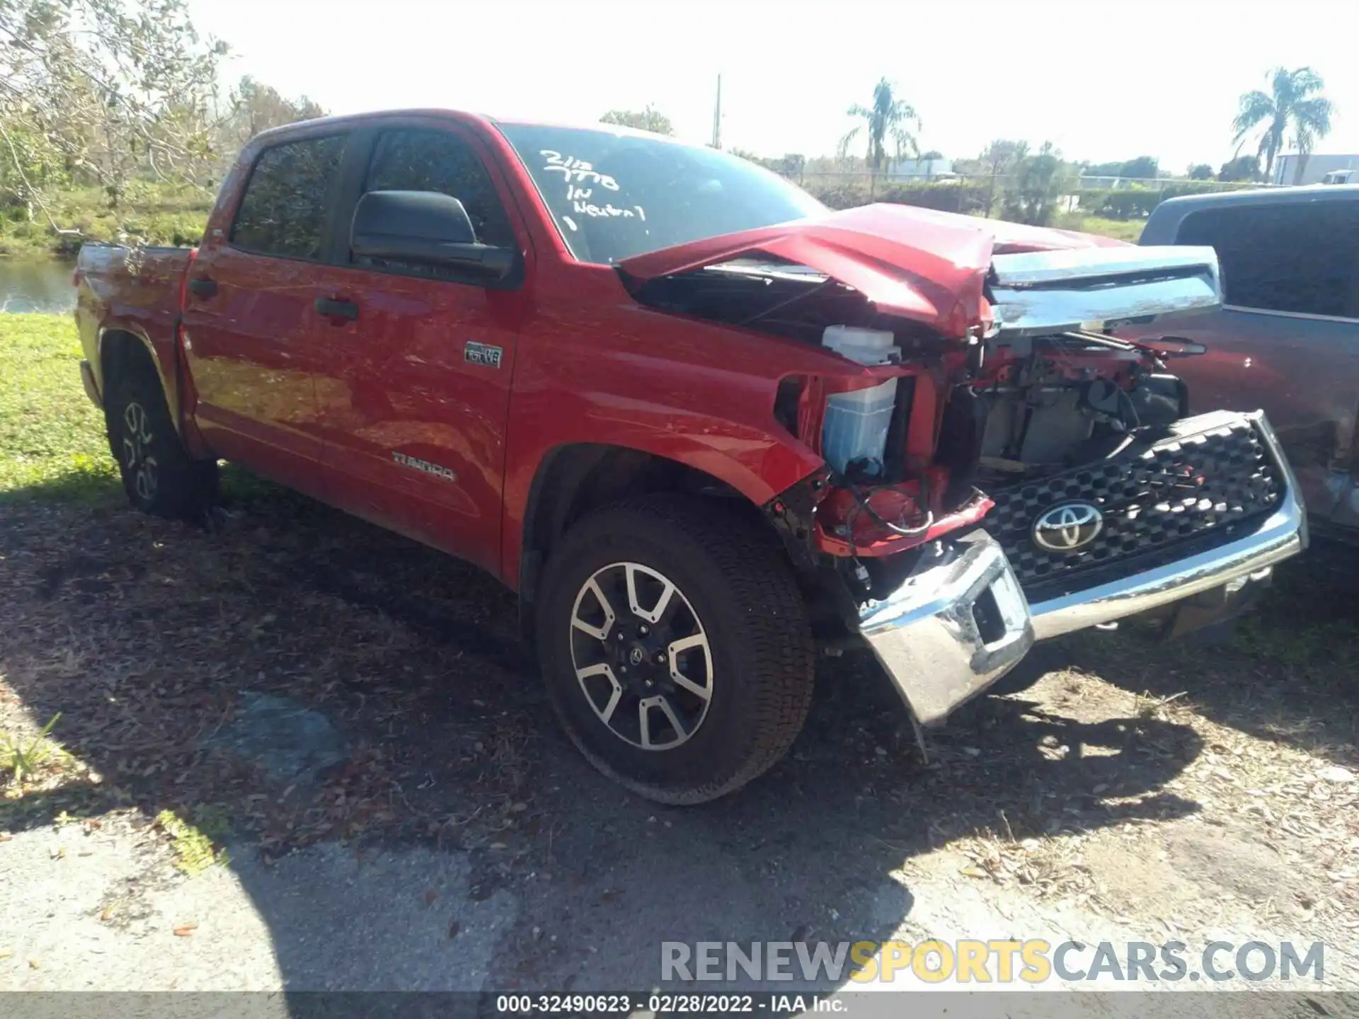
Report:
M 1030 606 L 1000 545 L 977 531 L 935 542 L 859 632 L 921 726 L 938 726 L 1025 656 L 1034 640 L 1113 622 L 1267 575 L 1307 548 L 1298 482 L 1264 414 L 1254 418 L 1283 473 L 1279 507 L 1254 531 L 1166 567 Z

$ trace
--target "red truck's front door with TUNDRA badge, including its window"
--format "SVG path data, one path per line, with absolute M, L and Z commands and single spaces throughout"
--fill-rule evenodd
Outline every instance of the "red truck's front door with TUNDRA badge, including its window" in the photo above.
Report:
M 364 192 L 442 192 L 462 201 L 477 240 L 525 253 L 526 273 L 488 287 L 442 266 L 359 264 L 345 243 L 326 293 L 353 318 L 315 325 L 326 351 L 317 397 L 328 499 L 495 571 L 510 385 L 529 314 L 527 232 L 472 130 L 404 118 L 357 144 L 347 217 Z

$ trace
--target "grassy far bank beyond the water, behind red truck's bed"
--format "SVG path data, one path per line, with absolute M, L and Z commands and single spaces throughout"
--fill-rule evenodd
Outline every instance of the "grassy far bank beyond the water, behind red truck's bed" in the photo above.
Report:
M 39 209 L 30 220 L 26 208 L 0 208 L 0 257 L 69 255 L 84 240 L 197 245 L 212 202 L 212 193 L 198 187 L 137 181 L 111 208 L 102 189 L 73 187 L 48 196 L 46 204 L 57 224 L 79 236 L 53 232 Z

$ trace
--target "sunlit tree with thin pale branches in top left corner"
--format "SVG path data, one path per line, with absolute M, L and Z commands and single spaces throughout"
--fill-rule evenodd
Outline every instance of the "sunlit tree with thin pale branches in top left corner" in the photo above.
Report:
M 185 0 L 0 0 L 0 201 L 72 232 L 57 189 L 118 207 L 135 179 L 208 187 L 255 128 L 321 113 L 251 79 L 223 96 L 227 52 Z

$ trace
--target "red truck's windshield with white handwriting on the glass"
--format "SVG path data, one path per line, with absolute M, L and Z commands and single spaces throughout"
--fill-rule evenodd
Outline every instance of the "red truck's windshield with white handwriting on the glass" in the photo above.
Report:
M 582 262 L 613 265 L 826 211 L 777 174 L 716 149 L 607 128 L 497 126 Z

